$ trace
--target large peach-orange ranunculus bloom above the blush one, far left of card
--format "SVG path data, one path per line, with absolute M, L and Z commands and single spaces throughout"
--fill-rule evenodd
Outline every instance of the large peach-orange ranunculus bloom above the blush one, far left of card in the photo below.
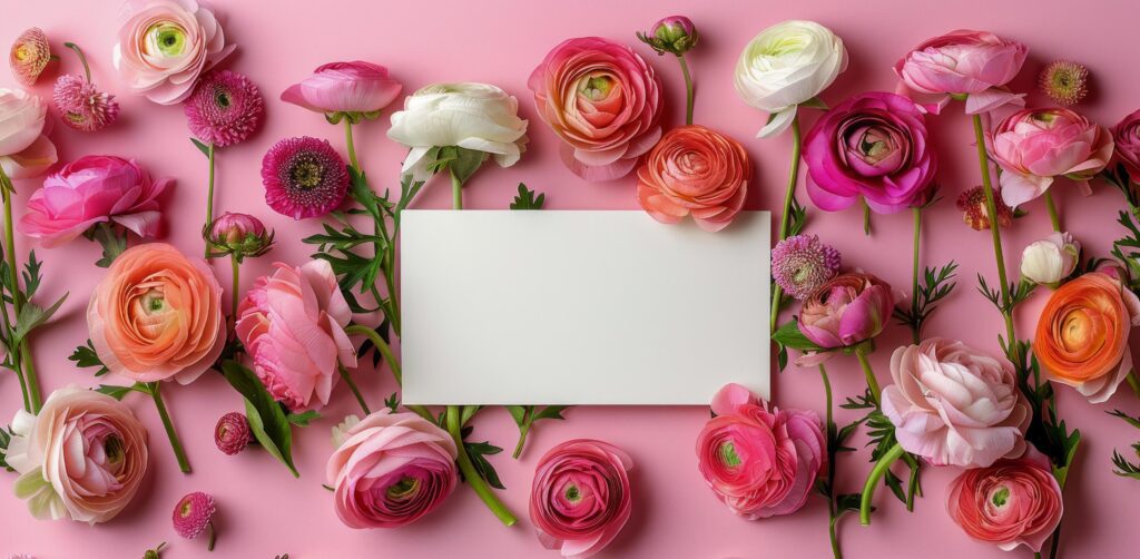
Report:
M 192 382 L 226 342 L 218 280 L 205 260 L 165 243 L 115 259 L 91 294 L 87 324 L 103 364 L 137 382 Z

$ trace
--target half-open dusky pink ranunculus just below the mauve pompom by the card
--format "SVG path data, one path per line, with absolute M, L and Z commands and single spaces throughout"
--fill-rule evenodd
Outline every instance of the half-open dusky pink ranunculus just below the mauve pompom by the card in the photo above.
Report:
M 890 319 L 890 285 L 870 274 L 840 274 L 804 300 L 799 330 L 816 346 L 834 349 L 870 340 Z

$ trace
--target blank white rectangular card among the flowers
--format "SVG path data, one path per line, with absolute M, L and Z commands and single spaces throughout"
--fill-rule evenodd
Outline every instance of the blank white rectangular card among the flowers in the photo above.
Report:
M 769 214 L 407 210 L 407 404 L 707 405 L 768 397 Z

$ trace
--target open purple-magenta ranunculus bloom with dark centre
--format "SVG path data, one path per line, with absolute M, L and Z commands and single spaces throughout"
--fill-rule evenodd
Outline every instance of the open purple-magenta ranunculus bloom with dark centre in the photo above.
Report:
M 828 111 L 804 141 L 807 194 L 822 210 L 861 196 L 879 213 L 921 205 L 937 168 L 922 112 L 901 95 L 871 91 Z

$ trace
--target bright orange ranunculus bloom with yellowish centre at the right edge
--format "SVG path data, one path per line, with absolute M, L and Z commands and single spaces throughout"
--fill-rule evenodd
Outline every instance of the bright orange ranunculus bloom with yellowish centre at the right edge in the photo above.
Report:
M 1093 272 L 1049 298 L 1033 349 L 1050 380 L 1076 388 L 1097 404 L 1132 370 L 1129 332 L 1137 325 L 1140 299 L 1116 278 Z

